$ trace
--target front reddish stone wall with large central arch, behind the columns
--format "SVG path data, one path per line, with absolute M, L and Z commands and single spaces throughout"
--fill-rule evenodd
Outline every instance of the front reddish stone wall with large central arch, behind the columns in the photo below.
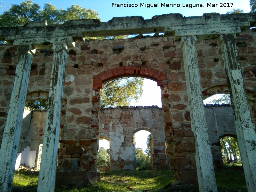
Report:
M 255 39 L 255 33 L 251 30 L 242 33 L 236 40 L 254 123 Z M 227 85 L 227 80 L 217 40 L 198 41 L 196 46 L 203 95 L 208 97 L 213 92 L 226 92 L 223 87 Z M 17 65 L 17 49 L 12 45 L 1 45 L 0 57 L 2 138 Z M 36 51 L 32 60 L 27 101 L 47 99 L 52 59 L 51 50 Z M 60 174 L 68 177 L 72 171 L 73 175 L 77 174 L 77 178 L 81 175 L 88 180 L 96 177 L 100 86 L 105 81 L 121 76 L 147 77 L 161 86 L 170 168 L 176 171 L 177 179 L 195 182 L 195 139 L 190 125 L 183 53 L 180 42 L 174 41 L 173 37 L 76 42 L 75 48 L 69 51 L 66 64 Z M 213 87 L 217 88 L 211 91 Z

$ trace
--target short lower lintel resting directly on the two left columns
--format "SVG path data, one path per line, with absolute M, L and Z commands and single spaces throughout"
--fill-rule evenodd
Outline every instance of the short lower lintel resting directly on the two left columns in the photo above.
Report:
M 7 39 L 12 39 L 12 36 L 8 36 Z M 62 37 L 50 37 L 50 38 L 28 38 L 17 39 L 13 42 L 14 45 L 19 44 L 32 44 L 36 49 L 49 49 L 52 48 L 54 43 L 66 43 L 68 47 L 74 47 L 75 42 L 71 36 Z

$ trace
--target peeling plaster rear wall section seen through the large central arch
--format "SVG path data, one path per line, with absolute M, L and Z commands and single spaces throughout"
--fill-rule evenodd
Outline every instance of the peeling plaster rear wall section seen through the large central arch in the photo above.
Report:
M 100 109 L 99 137 L 110 139 L 111 170 L 136 168 L 134 134 L 140 130 L 152 134 L 152 168 L 167 169 L 162 108 L 117 107 Z

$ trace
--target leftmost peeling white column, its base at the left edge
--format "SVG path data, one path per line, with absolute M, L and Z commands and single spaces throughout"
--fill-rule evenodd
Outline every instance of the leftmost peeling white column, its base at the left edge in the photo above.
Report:
M 28 80 L 32 57 L 35 50 L 31 51 L 30 45 L 19 45 L 18 65 L 10 100 L 10 108 L 4 128 L 2 146 L 0 150 L 0 191 L 8 192 L 12 188 L 12 180 L 16 156 L 19 148 L 21 122 L 28 89 Z

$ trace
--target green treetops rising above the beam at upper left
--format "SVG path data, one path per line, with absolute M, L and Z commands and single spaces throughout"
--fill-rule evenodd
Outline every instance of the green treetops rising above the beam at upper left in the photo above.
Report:
M 26 0 L 20 5 L 13 4 L 12 7 L 1 14 L 0 27 L 23 26 L 30 21 L 47 21 L 48 25 L 63 24 L 68 20 L 75 19 L 100 19 L 99 13 L 80 5 L 72 5 L 67 10 L 58 10 L 51 3 L 45 3 L 44 8 L 31 0 Z

